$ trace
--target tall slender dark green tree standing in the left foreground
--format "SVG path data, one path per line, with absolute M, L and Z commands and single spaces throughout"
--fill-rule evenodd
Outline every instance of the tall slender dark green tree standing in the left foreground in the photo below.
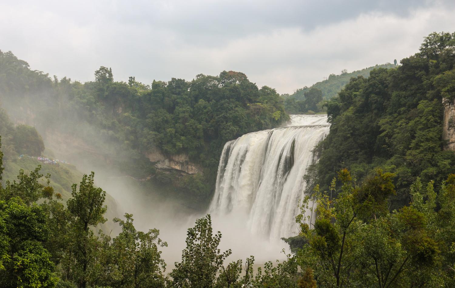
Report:
M 67 207 L 73 219 L 71 222 L 73 237 L 72 254 L 76 260 L 72 271 L 79 287 L 85 288 L 90 281 L 90 272 L 94 261 L 95 249 L 98 242 L 91 228 L 100 223 L 106 222 L 103 217 L 106 206 L 103 206 L 106 199 L 106 192 L 101 188 L 94 187 L 95 173 L 91 172 L 82 177 L 77 190 L 73 184 L 71 196 L 67 201 Z

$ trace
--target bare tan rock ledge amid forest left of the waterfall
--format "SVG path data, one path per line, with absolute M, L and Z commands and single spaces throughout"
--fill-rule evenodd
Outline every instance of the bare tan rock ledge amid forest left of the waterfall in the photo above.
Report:
M 188 155 L 165 155 L 159 150 L 153 150 L 146 154 L 151 162 L 156 162 L 155 167 L 164 170 L 180 170 L 187 174 L 202 173 L 202 167 L 196 163 L 190 162 Z

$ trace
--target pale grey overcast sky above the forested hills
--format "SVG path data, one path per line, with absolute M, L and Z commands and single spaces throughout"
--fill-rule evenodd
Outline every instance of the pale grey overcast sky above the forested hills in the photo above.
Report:
M 0 50 L 59 78 L 192 80 L 241 71 L 279 93 L 398 61 L 455 31 L 455 1 L 0 0 Z

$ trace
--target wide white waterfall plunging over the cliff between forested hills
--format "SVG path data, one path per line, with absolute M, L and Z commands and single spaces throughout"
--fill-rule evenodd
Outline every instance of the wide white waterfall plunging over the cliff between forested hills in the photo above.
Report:
M 271 240 L 296 232 L 303 176 L 329 133 L 326 115 L 291 115 L 288 126 L 245 134 L 224 145 L 209 212 L 247 215 L 251 232 Z

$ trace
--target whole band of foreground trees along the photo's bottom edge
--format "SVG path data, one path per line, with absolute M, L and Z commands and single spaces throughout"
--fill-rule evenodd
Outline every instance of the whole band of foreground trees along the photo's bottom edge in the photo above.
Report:
M 357 183 L 343 169 L 330 193 L 316 187 L 303 201 L 296 217 L 302 240 L 293 241 L 294 254 L 256 271 L 253 257 L 244 268 L 242 260 L 225 263 L 231 251 L 220 251 L 221 233 L 213 233 L 207 215 L 188 229 L 182 261 L 167 275 L 160 251 L 167 243 L 157 229 L 137 231 L 131 214 L 114 219 L 121 227 L 118 236 L 95 235 L 95 225 L 105 221 L 106 206 L 105 192 L 93 186 L 93 173 L 84 175 L 79 187 L 73 185 L 66 207 L 49 181 L 40 184 L 41 177 L 39 168 L 21 172 L 17 182 L 0 187 L 2 287 L 455 285 L 455 174 L 442 182 L 440 191 L 433 181 L 425 187 L 417 178 L 410 205 L 390 212 L 394 174 L 378 170 Z M 337 182 L 341 192 L 331 198 Z

